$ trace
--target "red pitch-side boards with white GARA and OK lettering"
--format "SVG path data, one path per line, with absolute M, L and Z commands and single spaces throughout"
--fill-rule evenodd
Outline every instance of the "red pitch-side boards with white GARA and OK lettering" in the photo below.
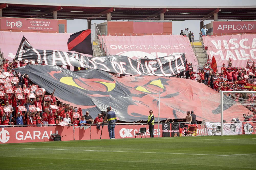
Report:
M 146 127 L 146 136 L 149 137 L 146 125 L 116 125 L 115 138 L 135 138 L 141 127 Z M 102 128 L 102 127 L 101 127 Z M 161 135 L 162 125 L 154 128 L 154 137 Z M 56 133 L 62 141 L 100 139 L 101 129 L 96 126 L 48 126 L 48 127 L 8 127 L 0 128 L 0 143 L 46 142 L 53 141 L 51 134 Z M 65 136 L 66 135 L 66 136 Z M 101 139 L 109 139 L 108 126 L 104 125 Z

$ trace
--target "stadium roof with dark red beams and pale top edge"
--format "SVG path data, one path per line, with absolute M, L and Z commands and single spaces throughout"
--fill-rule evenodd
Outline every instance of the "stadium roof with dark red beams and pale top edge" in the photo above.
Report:
M 229 5 L 228 2 L 221 3 L 220 0 L 210 2 L 210 4 L 208 2 L 208 6 L 195 5 L 193 2 L 188 2 L 187 6 L 180 6 L 180 2 L 165 0 L 159 0 L 159 2 L 148 0 L 148 2 L 144 1 L 146 3 L 144 5 L 141 2 L 137 2 L 135 5 L 121 2 L 119 4 L 124 5 L 116 5 L 117 3 L 113 1 L 83 2 L 73 0 L 70 4 L 71 1 L 67 0 L 57 0 L 54 3 L 50 0 L 44 2 L 39 0 L 22 2 L 0 0 L 0 9 L 2 9 L 3 17 L 22 18 L 53 18 L 52 13 L 58 11 L 58 19 L 106 20 L 106 14 L 110 12 L 111 20 L 160 20 L 161 13 L 164 13 L 165 20 L 213 20 L 215 13 L 218 13 L 218 20 L 256 19 L 256 1 L 250 0 L 243 2 L 234 0 L 233 4 L 237 2 L 235 6 Z M 133 4 L 134 1 L 129 2 Z M 218 3 L 220 3 L 219 6 L 216 5 Z

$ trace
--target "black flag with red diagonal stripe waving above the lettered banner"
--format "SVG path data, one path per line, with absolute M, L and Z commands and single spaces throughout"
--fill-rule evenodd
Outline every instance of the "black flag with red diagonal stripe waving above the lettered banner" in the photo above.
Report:
M 83 30 L 70 35 L 68 50 L 92 55 L 91 30 Z

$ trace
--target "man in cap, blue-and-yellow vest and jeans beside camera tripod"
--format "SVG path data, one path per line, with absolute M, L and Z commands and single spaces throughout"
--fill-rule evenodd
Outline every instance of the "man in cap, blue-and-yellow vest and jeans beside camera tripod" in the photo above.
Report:
M 108 120 L 109 138 L 115 139 L 115 122 L 117 122 L 115 112 L 111 110 L 111 107 L 107 108 L 107 112 L 104 122 Z

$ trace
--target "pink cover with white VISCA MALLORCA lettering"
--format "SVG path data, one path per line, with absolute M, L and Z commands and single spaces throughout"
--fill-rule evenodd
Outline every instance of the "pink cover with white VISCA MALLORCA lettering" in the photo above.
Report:
M 207 54 L 217 61 L 217 66 L 228 64 L 232 60 L 233 67 L 246 67 L 247 60 L 256 62 L 256 35 L 225 35 L 203 37 Z

